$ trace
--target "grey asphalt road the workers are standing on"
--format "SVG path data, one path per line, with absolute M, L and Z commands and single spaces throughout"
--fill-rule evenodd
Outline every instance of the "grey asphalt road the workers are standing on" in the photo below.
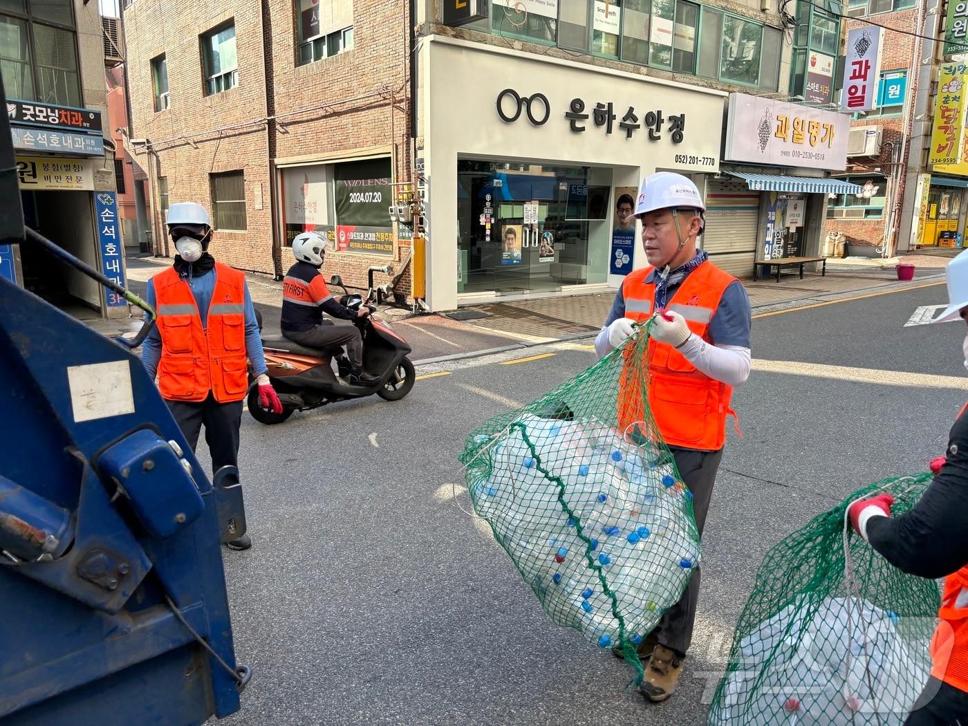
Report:
M 693 647 L 680 690 L 657 706 L 624 689 L 627 666 L 542 613 L 460 508 L 467 434 L 582 371 L 587 345 L 427 366 L 418 373 L 446 375 L 398 403 L 276 427 L 246 415 L 255 546 L 225 562 L 236 652 L 255 677 L 226 723 L 704 722 L 767 549 L 943 450 L 968 396 L 962 323 L 903 325 L 944 296 L 923 287 L 754 320 L 755 368 L 734 398 L 743 438 L 731 433 L 713 495 Z M 499 365 L 542 353 L 554 355 Z

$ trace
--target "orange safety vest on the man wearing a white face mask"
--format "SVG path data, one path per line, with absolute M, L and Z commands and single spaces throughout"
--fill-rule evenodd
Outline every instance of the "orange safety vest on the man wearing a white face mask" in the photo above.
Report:
M 158 388 L 170 401 L 241 401 L 249 388 L 245 275 L 215 263 L 215 289 L 202 327 L 195 294 L 174 267 L 152 278 L 162 336 Z

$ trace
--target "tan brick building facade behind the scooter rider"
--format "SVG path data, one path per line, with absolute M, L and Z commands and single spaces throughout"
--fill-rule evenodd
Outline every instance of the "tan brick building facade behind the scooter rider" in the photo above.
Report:
M 385 166 L 386 181 L 408 181 L 407 5 L 343 0 L 331 6 L 338 7 L 327 13 L 308 0 L 181 0 L 174 6 L 136 0 L 124 10 L 132 145 L 149 170 L 152 208 L 159 210 L 156 254 L 173 254 L 163 227 L 167 205 L 199 201 L 213 215 L 215 257 L 281 276 L 293 261 L 286 245 L 294 230 L 339 236 L 337 224 L 345 223 L 331 218 L 331 197 L 341 165 L 370 161 Z M 344 26 L 327 36 L 333 30 L 327 22 Z M 329 206 L 328 217 L 314 208 L 311 220 L 309 201 L 289 199 L 287 207 L 287 184 L 299 175 L 307 200 L 317 188 L 313 179 L 325 179 L 316 194 Z M 382 199 L 388 186 L 367 198 Z M 293 209 L 301 215 L 298 225 L 289 224 Z M 385 227 L 383 254 L 332 252 L 327 272 L 365 287 L 371 265 L 399 270 L 408 258 L 408 235 L 401 244 L 388 214 Z

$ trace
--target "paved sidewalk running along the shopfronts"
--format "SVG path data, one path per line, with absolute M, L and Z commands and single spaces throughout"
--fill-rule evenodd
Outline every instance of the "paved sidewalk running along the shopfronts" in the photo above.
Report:
M 960 250 L 931 251 L 891 259 L 848 257 L 830 258 L 827 275 L 807 273 L 784 275 L 757 282 L 743 281 L 749 293 L 754 314 L 797 308 L 870 292 L 884 292 L 944 281 L 944 267 Z M 894 266 L 899 262 L 916 265 L 912 282 L 898 282 Z M 170 264 L 164 257 L 140 257 L 128 260 L 129 286 L 143 294 L 152 275 Z M 278 333 L 282 305 L 282 283 L 268 275 L 247 273 L 253 303 L 262 314 L 266 333 Z M 944 292 L 939 292 L 939 299 Z M 454 313 L 411 316 L 408 310 L 384 308 L 379 317 L 386 319 L 403 335 L 413 352 L 414 362 L 441 358 L 466 357 L 495 348 L 524 348 L 550 343 L 563 338 L 591 336 L 598 332 L 608 316 L 615 291 L 596 294 L 549 297 L 533 300 L 495 302 L 461 308 Z M 136 311 L 138 312 L 138 311 Z M 134 333 L 138 318 L 99 320 L 96 325 L 106 335 Z

